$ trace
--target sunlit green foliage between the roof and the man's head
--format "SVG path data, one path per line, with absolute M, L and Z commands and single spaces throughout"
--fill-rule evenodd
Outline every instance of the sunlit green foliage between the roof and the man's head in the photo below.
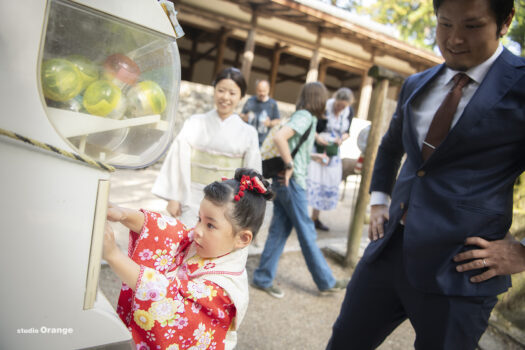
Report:
M 416 46 L 432 49 L 436 45 L 436 16 L 432 0 L 382 0 L 369 7 L 359 6 L 357 10 L 379 23 L 394 26 L 401 39 Z

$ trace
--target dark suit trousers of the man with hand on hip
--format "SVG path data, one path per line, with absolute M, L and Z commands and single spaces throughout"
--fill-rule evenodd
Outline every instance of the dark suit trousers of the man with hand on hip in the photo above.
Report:
M 413 288 L 403 268 L 402 245 L 400 225 L 376 261 L 357 265 L 327 349 L 375 349 L 407 318 L 416 331 L 416 349 L 476 348 L 497 298 Z

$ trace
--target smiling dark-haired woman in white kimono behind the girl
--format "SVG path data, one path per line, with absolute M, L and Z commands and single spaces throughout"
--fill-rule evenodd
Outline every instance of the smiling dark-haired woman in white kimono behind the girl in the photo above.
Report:
M 261 172 L 257 131 L 235 113 L 246 92 L 244 77 L 240 70 L 226 68 L 213 86 L 215 109 L 186 120 L 152 189 L 168 201 L 170 215 L 188 227 L 197 222 L 205 185 L 233 178 L 237 168 Z

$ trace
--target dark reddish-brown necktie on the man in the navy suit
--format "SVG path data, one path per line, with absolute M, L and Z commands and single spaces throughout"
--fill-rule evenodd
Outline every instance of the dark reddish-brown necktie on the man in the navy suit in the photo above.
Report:
M 434 119 L 432 119 L 432 123 L 428 128 L 427 137 L 423 141 L 423 147 L 421 148 L 423 160 L 427 160 L 447 136 L 456 109 L 458 109 L 463 87 L 471 81 L 468 75 L 464 73 L 456 74 L 452 80 L 454 81 L 454 86 L 450 89 L 443 102 L 441 102 L 441 106 L 436 111 Z

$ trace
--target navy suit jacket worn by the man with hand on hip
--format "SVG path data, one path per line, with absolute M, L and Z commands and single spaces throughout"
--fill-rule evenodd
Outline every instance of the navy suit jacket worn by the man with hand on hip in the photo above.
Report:
M 413 287 L 443 295 L 496 295 L 508 289 L 509 276 L 472 283 L 469 277 L 481 271 L 457 272 L 452 258 L 474 248 L 464 246 L 467 237 L 502 239 L 510 228 L 513 185 L 525 170 L 525 59 L 504 49 L 458 123 L 423 161 L 411 102 L 443 68 L 410 76 L 401 89 L 371 184 L 371 191 L 391 194 L 390 220 L 385 237 L 371 242 L 363 259 L 379 256 L 407 210 L 403 257 Z

